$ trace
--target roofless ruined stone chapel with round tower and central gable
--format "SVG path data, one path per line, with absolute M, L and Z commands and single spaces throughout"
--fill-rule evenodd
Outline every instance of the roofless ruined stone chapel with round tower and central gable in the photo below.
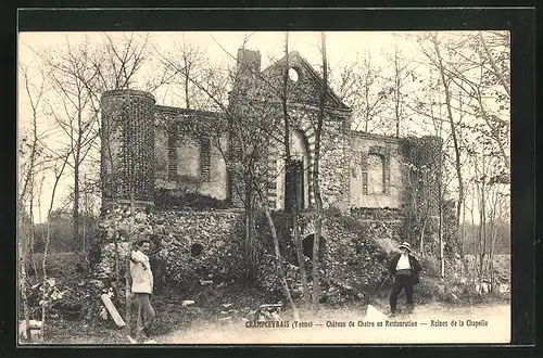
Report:
M 287 67 L 290 76 L 286 91 L 281 92 Z M 354 131 L 351 125 L 356 118 L 352 108 L 324 86 L 318 72 L 296 51 L 261 68 L 258 51 L 240 49 L 229 103 L 223 112 L 160 105 L 152 94 L 138 90 L 104 92 L 102 220 L 109 225 L 103 252 L 108 246 L 111 250 L 113 235 L 128 230 L 126 209 L 111 204 L 124 203 L 126 207 L 130 180 L 136 178 L 135 230 L 155 238 L 157 255 L 163 259 L 209 260 L 214 264 L 207 266 L 220 266 L 228 261 L 226 255 L 236 255 L 238 248 L 231 252 L 229 247 L 231 232 L 242 222 L 242 204 L 236 191 L 237 176 L 232 175 L 235 159 L 228 163 L 239 151 L 231 136 L 236 130 L 231 114 L 256 122 L 262 130 L 269 131 L 263 136 L 266 149 L 260 152 L 255 169 L 265 186 L 268 207 L 283 210 L 294 202 L 302 212 L 311 208 L 315 203 L 315 136 L 323 93 L 326 95 L 319 183 L 325 209 L 334 208 L 359 220 L 394 221 L 395 228 L 400 228 L 409 220 L 405 217 L 409 205 L 425 199 L 430 215 L 437 215 L 437 176 L 422 177 L 420 168 L 431 168 L 432 172 L 439 169 L 440 140 Z M 287 93 L 286 106 L 281 93 Z M 285 113 L 290 120 L 290 168 L 285 167 L 281 140 Z M 238 165 L 243 167 L 243 163 Z M 286 174 L 293 176 L 287 180 L 294 186 L 290 197 L 285 195 Z M 167 196 L 202 196 L 227 205 L 213 210 L 165 208 L 160 205 L 157 193 L 161 203 Z M 311 228 L 303 234 L 311 234 Z M 327 240 L 332 241 L 332 234 Z M 184 276 L 174 268 L 167 270 L 173 279 Z

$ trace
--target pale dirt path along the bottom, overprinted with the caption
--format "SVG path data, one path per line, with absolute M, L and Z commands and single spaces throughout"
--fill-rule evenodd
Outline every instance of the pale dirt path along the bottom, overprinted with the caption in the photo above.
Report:
M 162 344 L 392 344 L 508 343 L 510 340 L 509 305 L 431 304 L 417 307 L 411 317 L 386 318 L 381 314 L 323 311 L 317 318 L 303 320 L 304 324 L 289 319 L 288 327 L 283 328 L 254 328 L 244 321 L 198 322 L 157 341 Z M 395 327 L 391 321 L 403 322 L 397 324 L 404 327 Z M 382 327 L 378 327 L 378 322 L 382 322 Z

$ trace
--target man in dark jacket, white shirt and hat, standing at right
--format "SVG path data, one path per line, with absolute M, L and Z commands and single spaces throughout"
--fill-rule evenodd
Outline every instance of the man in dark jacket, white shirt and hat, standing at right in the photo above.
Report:
M 420 264 L 411 254 L 411 245 L 408 242 L 402 243 L 400 254 L 395 255 L 389 263 L 389 272 L 394 278 L 394 285 L 390 294 L 390 311 L 391 316 L 396 315 L 397 296 L 405 289 L 407 297 L 407 310 L 413 312 L 413 286 L 419 283 L 418 273 L 421 271 Z

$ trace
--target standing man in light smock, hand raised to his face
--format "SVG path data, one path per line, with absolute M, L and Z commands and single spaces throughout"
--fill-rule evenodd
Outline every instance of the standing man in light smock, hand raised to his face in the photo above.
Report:
M 151 242 L 147 239 L 140 240 L 130 256 L 130 276 L 132 279 L 131 291 L 138 307 L 138 321 L 136 324 L 136 340 L 128 336 L 130 342 L 155 343 L 149 337 L 149 330 L 154 321 L 154 308 L 151 306 L 151 294 L 153 293 L 153 272 L 149 261 L 149 250 Z

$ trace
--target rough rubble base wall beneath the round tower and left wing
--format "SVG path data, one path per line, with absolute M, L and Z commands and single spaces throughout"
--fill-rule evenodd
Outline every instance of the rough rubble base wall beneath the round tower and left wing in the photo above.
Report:
M 243 276 L 242 212 L 239 210 L 157 210 L 138 208 L 135 240 L 152 241 L 151 258 L 163 264 L 171 283 L 192 284 L 197 280 L 230 280 Z M 118 207 L 103 215 L 100 223 L 101 254 L 94 263 L 100 277 L 115 270 L 114 235 L 119 255 L 126 257 L 130 232 L 129 208 Z

